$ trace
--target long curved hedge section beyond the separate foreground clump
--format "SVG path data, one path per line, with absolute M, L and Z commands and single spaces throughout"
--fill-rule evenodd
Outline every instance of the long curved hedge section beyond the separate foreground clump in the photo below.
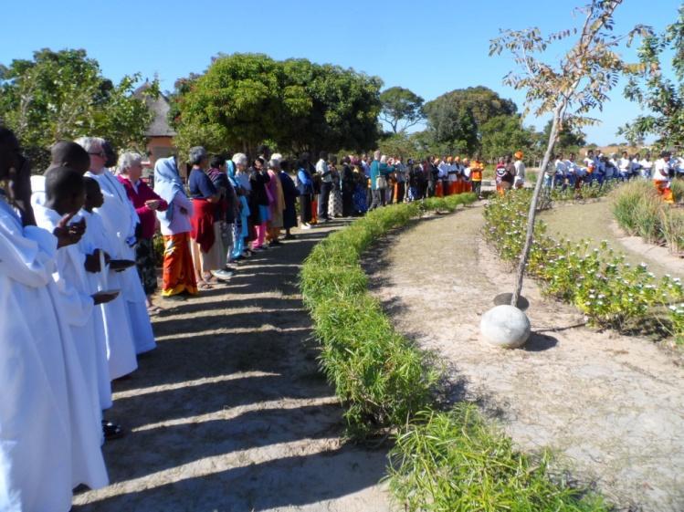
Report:
M 328 236 L 305 261 L 300 288 L 321 341 L 321 368 L 346 407 L 353 437 L 405 423 L 434 401 L 439 380 L 431 356 L 396 332 L 369 296 L 363 251 L 422 212 L 473 201 L 468 193 L 374 210 Z

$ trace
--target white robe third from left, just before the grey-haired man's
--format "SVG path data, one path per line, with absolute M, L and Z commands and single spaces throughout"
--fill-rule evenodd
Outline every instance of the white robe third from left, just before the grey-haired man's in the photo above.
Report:
M 100 215 L 94 212 L 89 213 L 86 210 L 81 210 L 80 215 L 86 219 L 86 233 L 79 242 L 81 250 L 86 254 L 92 254 L 95 249 L 101 249 L 109 255 L 114 253 Z M 108 268 L 105 268 L 104 272 L 100 272 L 100 274 L 89 272 L 87 277 L 90 293 L 95 293 L 105 288 L 121 289 L 119 273 Z M 110 380 L 113 381 L 128 375 L 138 368 L 131 320 L 129 319 L 125 299 L 121 296 L 107 304 L 101 304 L 98 312 L 104 323 L 109 376 Z

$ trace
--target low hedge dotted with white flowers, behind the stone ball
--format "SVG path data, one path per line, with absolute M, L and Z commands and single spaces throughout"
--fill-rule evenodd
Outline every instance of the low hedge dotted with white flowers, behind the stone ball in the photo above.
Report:
M 515 191 L 485 208 L 485 235 L 504 260 L 516 262 L 520 257 L 530 202 L 531 193 Z M 640 229 L 637 221 L 634 225 Z M 646 264 L 630 266 L 605 243 L 591 248 L 587 241 L 559 242 L 538 222 L 527 273 L 542 281 L 545 293 L 573 303 L 595 325 L 623 329 L 647 320 L 676 341 L 684 340 L 684 287 L 679 278 L 657 280 Z

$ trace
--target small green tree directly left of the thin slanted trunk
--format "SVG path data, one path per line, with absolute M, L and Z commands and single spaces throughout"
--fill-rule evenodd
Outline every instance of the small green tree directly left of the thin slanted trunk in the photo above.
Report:
M 489 161 L 507 153 L 524 152 L 528 161 L 539 153 L 539 134 L 531 127 L 522 126 L 521 116 L 496 116 L 482 127 L 480 152 Z

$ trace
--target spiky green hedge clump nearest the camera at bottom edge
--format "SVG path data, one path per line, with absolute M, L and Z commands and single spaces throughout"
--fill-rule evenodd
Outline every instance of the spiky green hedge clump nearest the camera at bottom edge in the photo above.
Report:
M 599 512 L 593 495 L 554 482 L 550 455 L 521 455 L 490 427 L 478 408 L 419 413 L 396 436 L 389 485 L 409 512 Z

